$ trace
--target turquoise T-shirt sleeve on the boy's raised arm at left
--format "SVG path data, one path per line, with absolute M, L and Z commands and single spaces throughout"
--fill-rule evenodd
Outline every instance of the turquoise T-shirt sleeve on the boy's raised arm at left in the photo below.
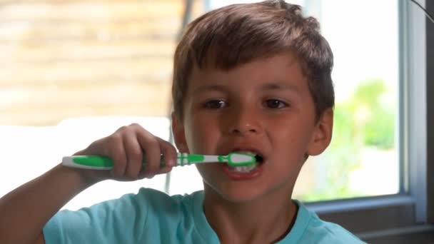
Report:
M 45 242 L 139 243 L 148 213 L 141 191 L 90 208 L 59 211 L 44 226 Z

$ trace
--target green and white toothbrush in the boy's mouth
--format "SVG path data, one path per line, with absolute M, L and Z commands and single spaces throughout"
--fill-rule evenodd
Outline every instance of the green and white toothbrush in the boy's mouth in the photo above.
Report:
M 229 153 L 226 156 L 201 155 L 178 153 L 175 166 L 189 166 L 193 163 L 228 163 L 229 166 L 251 166 L 256 162 L 261 162 L 261 156 L 249 153 Z M 146 160 L 143 158 L 143 166 Z M 113 168 L 113 161 L 105 156 L 66 156 L 62 158 L 62 165 L 74 168 L 86 168 L 96 170 L 110 170 Z M 164 166 L 161 157 L 160 166 Z

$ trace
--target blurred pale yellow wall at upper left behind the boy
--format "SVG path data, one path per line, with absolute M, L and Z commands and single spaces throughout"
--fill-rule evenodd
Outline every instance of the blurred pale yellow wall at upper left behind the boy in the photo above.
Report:
M 166 116 L 182 0 L 0 0 L 0 125 Z M 203 13 L 194 1 L 192 17 Z

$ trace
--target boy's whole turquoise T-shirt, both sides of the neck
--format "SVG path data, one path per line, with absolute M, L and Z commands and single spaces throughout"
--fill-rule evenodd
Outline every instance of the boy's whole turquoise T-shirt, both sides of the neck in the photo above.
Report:
M 296 222 L 278 243 L 363 243 L 340 225 L 298 204 Z M 137 194 L 77 211 L 61 210 L 44 227 L 50 243 L 220 243 L 203 214 L 203 191 L 169 196 L 141 188 Z

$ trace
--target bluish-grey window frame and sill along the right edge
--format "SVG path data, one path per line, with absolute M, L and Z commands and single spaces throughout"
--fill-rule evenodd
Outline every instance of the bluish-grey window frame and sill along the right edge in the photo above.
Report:
M 425 6 L 425 0 L 418 2 Z M 428 82 L 428 78 L 433 81 L 434 72 L 426 68 L 434 64 L 434 31 L 428 32 L 434 27 L 410 0 L 398 0 L 398 6 L 400 193 L 306 203 L 323 220 L 343 225 L 370 243 L 415 240 L 416 236 L 434 240 L 434 210 L 429 208 L 434 202 L 434 181 L 427 177 L 434 174 L 434 130 L 427 127 L 434 122 L 434 98 L 427 96 L 434 92 L 433 82 Z M 433 12 L 434 3 L 427 8 Z

